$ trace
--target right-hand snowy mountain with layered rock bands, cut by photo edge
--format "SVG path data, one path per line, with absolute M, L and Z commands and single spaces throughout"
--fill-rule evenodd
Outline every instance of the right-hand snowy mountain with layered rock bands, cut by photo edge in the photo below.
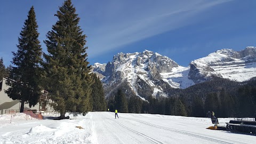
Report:
M 211 79 L 212 76 L 243 82 L 256 76 L 256 47 L 242 51 L 222 49 L 207 57 L 190 63 L 188 78 L 195 83 Z

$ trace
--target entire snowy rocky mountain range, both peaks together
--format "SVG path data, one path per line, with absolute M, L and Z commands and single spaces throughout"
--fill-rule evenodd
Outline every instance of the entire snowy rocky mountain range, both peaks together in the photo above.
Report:
M 256 47 L 238 52 L 222 49 L 190 62 L 189 67 L 179 66 L 170 58 L 147 50 L 118 53 L 111 62 L 95 63 L 92 67 L 102 78 L 107 96 L 122 85 L 129 89 L 126 92 L 132 91 L 141 98 L 169 97 L 170 89 L 185 89 L 209 81 L 213 76 L 238 82 L 255 77 Z

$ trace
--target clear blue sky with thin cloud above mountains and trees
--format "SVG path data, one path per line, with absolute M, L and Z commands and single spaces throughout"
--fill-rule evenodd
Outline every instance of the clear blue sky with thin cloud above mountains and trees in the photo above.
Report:
M 1 2 L 0 57 L 5 66 L 17 52 L 19 33 L 34 6 L 39 41 L 57 22 L 54 14 L 64 1 Z M 107 63 L 118 52 L 150 50 L 181 66 L 220 49 L 241 51 L 256 46 L 256 1 L 140 0 L 72 1 L 81 18 L 88 61 Z

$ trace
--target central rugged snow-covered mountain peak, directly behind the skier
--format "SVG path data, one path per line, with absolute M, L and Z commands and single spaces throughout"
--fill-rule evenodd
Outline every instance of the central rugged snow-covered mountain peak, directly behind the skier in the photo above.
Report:
M 101 65 L 97 63 L 95 66 Z M 193 85 L 194 82 L 188 79 L 188 73 L 189 67 L 181 67 L 166 56 L 145 50 L 114 55 L 101 74 L 105 76 L 102 79 L 105 87 L 113 87 L 111 91 L 117 84 L 125 82 L 136 95 L 145 98 L 145 89 L 154 97 L 167 97 L 164 92 L 167 87 L 185 89 Z

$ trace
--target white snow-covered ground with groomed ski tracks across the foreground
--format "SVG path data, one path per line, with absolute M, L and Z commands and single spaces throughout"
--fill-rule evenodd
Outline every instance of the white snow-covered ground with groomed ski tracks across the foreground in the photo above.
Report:
M 209 118 L 90 112 L 53 121 L 0 115 L 0 143 L 256 143 L 252 135 L 208 130 Z M 219 118 L 220 123 L 233 118 Z M 83 129 L 78 129 L 81 126 Z

